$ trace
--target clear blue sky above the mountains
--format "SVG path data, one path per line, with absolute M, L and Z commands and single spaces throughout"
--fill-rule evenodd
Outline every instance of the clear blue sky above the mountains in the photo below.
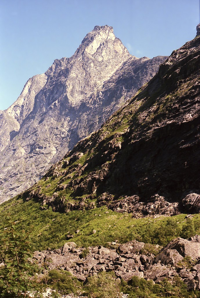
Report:
M 73 55 L 95 25 L 114 28 L 132 55 L 170 55 L 196 35 L 199 0 L 1 0 L 0 110 L 33 75 Z

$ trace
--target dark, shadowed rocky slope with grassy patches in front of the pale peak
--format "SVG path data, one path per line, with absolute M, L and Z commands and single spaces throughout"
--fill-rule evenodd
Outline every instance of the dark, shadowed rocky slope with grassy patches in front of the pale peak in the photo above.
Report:
M 200 37 L 101 129 L 21 196 L 68 212 L 107 205 L 133 216 L 199 212 Z

